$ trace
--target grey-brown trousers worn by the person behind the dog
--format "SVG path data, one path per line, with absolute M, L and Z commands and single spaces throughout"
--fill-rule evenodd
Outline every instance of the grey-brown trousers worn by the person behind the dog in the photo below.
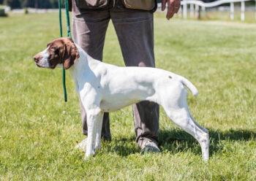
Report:
M 105 34 L 109 21 L 118 36 L 126 66 L 154 67 L 154 27 L 153 13 L 114 7 L 105 11 L 72 13 L 72 34 L 74 41 L 92 58 L 102 61 Z M 80 99 L 79 99 L 80 100 Z M 114 101 L 114 100 L 113 100 Z M 83 134 L 87 135 L 86 111 L 80 101 Z M 141 101 L 133 105 L 136 142 L 140 147 L 146 139 L 158 142 L 159 105 Z M 105 112 L 102 137 L 111 139 L 109 114 Z

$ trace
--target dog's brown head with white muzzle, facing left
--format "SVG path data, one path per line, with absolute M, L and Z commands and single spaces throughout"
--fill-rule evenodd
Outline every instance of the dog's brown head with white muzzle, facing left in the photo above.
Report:
M 79 58 L 78 48 L 69 37 L 55 39 L 48 43 L 47 48 L 34 56 L 37 66 L 54 69 L 63 63 L 69 69 Z

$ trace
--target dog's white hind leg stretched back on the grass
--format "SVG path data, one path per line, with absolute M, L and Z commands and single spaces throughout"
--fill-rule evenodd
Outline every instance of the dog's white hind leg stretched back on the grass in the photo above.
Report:
M 191 134 L 199 142 L 202 149 L 202 156 L 204 161 L 208 161 L 209 158 L 209 135 L 206 128 L 200 126 L 193 118 L 190 116 L 189 109 L 187 107 L 176 109 L 165 109 L 167 116 L 173 120 L 176 125 L 180 126 Z

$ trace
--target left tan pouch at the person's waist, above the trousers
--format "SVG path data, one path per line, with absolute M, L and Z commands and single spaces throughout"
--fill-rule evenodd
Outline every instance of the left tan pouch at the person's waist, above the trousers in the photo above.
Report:
M 104 9 L 110 5 L 110 0 L 75 0 L 80 9 Z

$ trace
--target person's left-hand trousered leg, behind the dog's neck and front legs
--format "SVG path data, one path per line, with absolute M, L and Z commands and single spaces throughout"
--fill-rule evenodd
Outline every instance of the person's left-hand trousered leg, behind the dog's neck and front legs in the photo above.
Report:
M 109 20 L 110 15 L 108 11 L 88 12 L 77 16 L 72 15 L 72 35 L 74 42 L 82 47 L 92 58 L 99 61 L 102 61 L 105 34 Z M 80 111 L 83 134 L 87 135 L 86 111 L 81 101 Z M 108 112 L 105 112 L 103 117 L 102 137 L 107 140 L 111 139 Z

